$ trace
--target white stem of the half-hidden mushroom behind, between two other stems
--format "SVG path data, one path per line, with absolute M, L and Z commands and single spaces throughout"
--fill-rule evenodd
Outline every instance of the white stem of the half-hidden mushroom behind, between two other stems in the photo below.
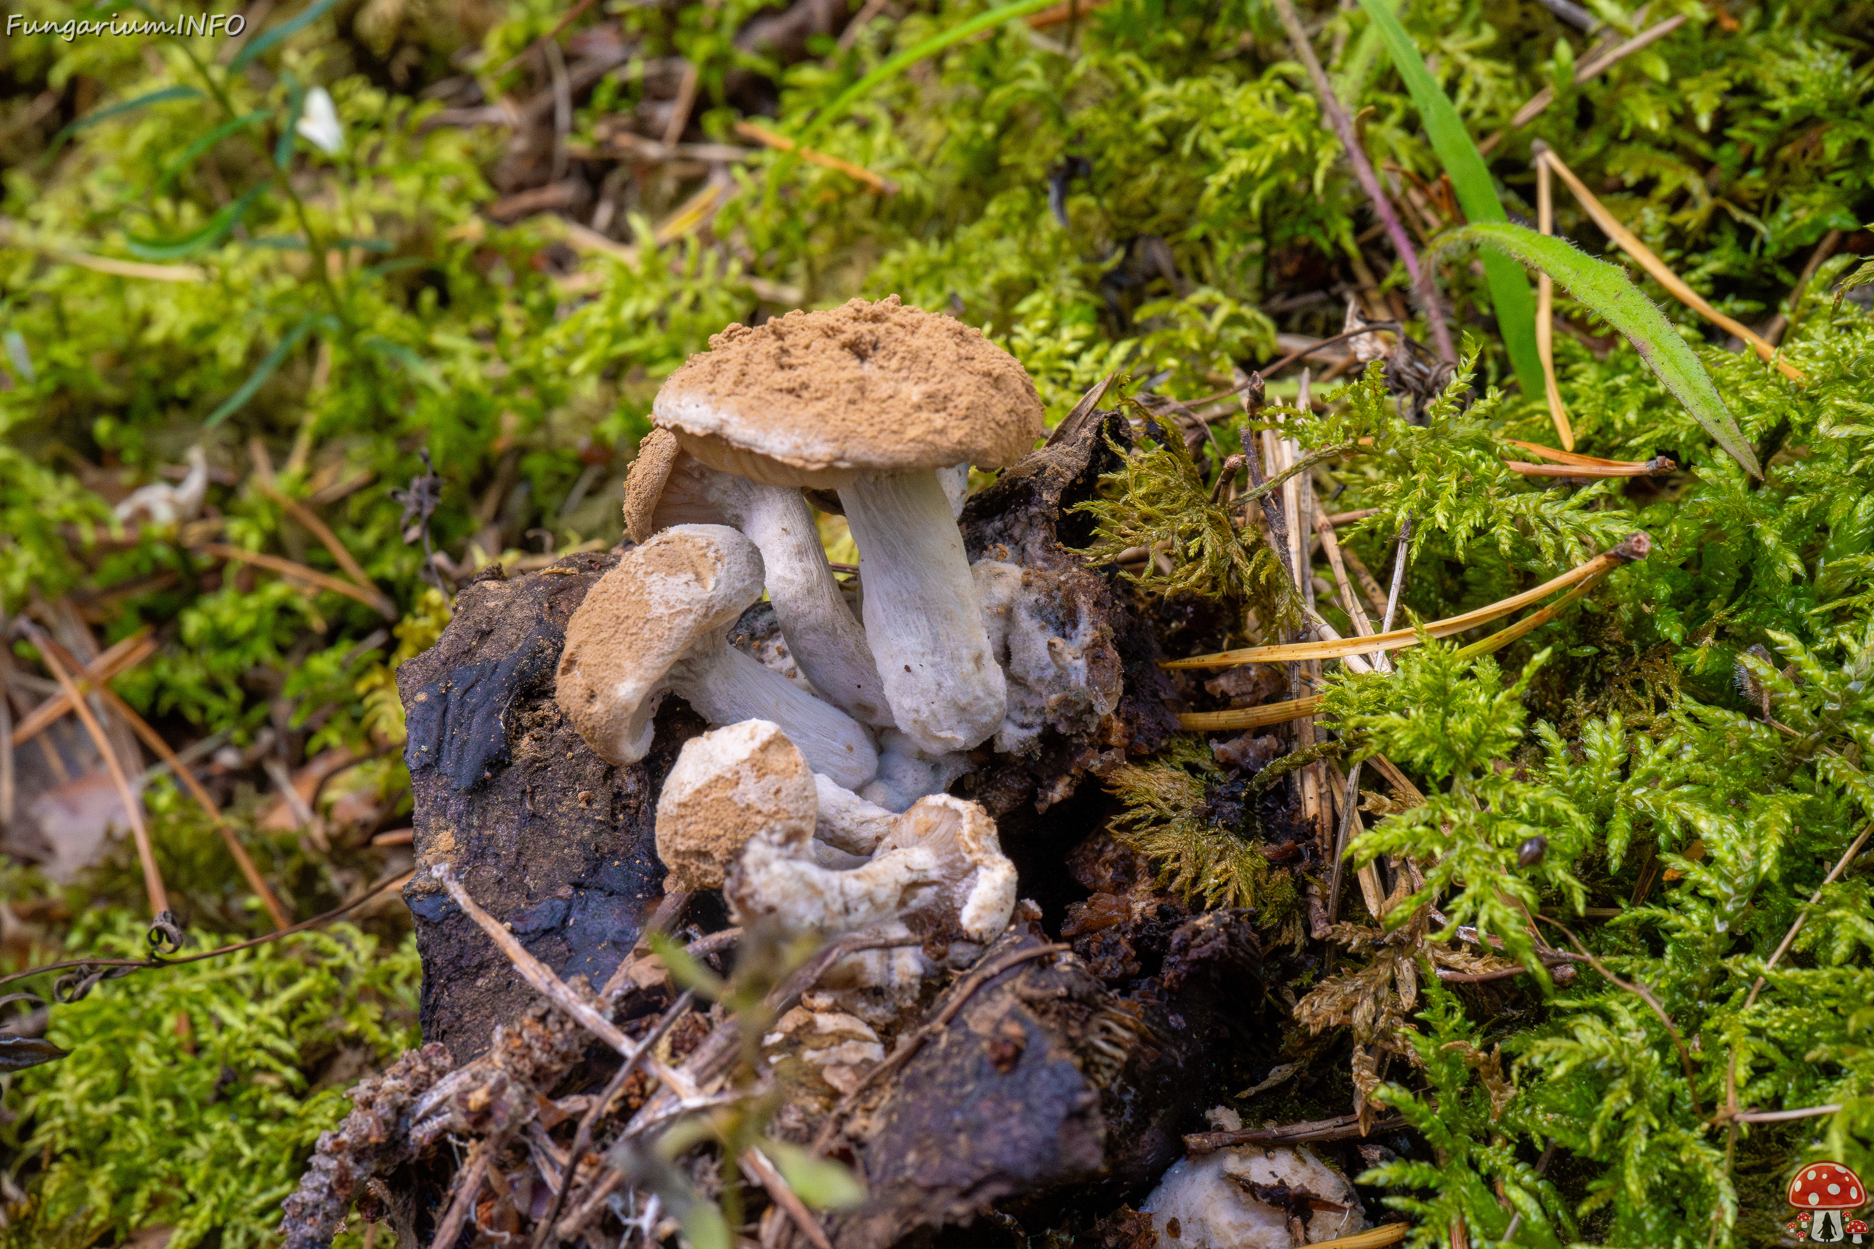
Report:
M 800 491 L 746 485 L 740 530 L 761 547 L 768 599 L 787 652 L 828 702 L 868 725 L 890 728 L 892 704 L 879 682 L 866 631 L 840 595 L 840 582 L 826 564 L 813 509 Z

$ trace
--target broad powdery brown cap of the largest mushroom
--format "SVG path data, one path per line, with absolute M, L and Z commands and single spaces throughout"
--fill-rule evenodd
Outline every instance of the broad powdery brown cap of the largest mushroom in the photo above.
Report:
M 663 382 L 652 419 L 720 472 L 840 489 L 858 472 L 1008 464 L 1042 401 L 982 331 L 886 296 L 729 326 Z

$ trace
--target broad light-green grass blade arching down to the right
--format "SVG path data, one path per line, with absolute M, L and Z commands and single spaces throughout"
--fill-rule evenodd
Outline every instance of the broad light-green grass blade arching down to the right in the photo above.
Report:
M 1692 419 L 1745 466 L 1745 472 L 1752 478 L 1763 476 L 1756 453 L 1737 429 L 1732 410 L 1724 406 L 1724 395 L 1711 382 L 1711 375 L 1698 363 L 1698 356 L 1666 315 L 1627 279 L 1627 270 L 1595 260 L 1559 238 L 1509 221 L 1473 223 L 1441 240 L 1441 247 L 1464 243 L 1480 243 L 1499 258 L 1520 260 L 1554 277 L 1597 316 L 1627 335 L 1653 375 L 1679 397 Z

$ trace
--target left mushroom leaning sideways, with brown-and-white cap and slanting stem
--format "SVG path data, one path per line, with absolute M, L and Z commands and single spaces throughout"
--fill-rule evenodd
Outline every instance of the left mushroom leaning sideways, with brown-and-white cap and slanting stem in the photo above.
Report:
M 742 534 L 678 524 L 624 552 L 592 586 L 566 622 L 555 697 L 600 758 L 643 758 L 658 702 L 675 691 L 718 725 L 781 725 L 834 781 L 871 779 L 879 758 L 864 725 L 725 642 L 761 582 L 761 552 Z

